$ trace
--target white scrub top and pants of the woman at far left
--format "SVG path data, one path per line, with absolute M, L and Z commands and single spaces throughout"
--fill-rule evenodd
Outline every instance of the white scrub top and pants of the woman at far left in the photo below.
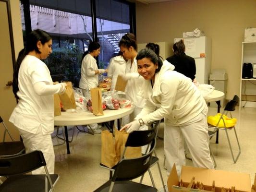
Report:
M 38 96 L 33 87 L 38 82 L 52 85 L 46 64 L 34 56 L 27 55 L 21 63 L 18 76 L 19 102 L 9 119 L 23 138 L 26 153 L 41 150 L 49 173 L 54 173 L 55 155 L 50 133 L 54 130 L 53 94 Z M 33 174 L 45 174 L 37 169 Z

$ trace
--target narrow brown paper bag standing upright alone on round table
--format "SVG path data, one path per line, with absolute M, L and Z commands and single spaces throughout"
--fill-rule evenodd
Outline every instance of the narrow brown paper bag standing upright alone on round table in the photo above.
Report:
M 102 97 L 101 97 L 101 88 L 92 88 L 91 89 L 91 98 L 92 98 L 92 112 L 96 116 L 103 115 L 102 109 Z

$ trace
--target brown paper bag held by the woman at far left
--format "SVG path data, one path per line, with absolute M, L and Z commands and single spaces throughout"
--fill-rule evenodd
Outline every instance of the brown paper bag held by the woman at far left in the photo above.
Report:
M 61 103 L 63 105 L 63 109 L 67 110 L 70 108 L 76 109 L 75 100 L 74 100 L 74 92 L 71 82 L 65 82 L 67 84 L 66 91 L 64 94 L 59 94 Z

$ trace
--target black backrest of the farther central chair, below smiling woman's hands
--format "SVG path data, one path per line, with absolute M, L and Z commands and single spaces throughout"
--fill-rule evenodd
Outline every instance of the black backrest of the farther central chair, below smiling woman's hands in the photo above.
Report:
M 131 132 L 125 143 L 125 147 L 139 147 L 146 144 L 151 144 L 157 135 L 160 121 L 156 121 L 149 130 Z

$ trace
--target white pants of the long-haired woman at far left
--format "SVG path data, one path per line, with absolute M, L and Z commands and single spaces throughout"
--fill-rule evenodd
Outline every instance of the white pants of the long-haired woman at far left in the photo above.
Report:
M 53 144 L 51 140 L 51 135 L 50 134 L 43 135 L 42 130 L 40 128 L 38 129 L 36 134 L 26 132 L 22 129 L 18 129 L 18 130 L 23 139 L 26 153 L 30 153 L 35 150 L 42 151 L 49 174 L 54 174 L 55 154 L 54 154 Z M 32 171 L 32 174 L 36 175 L 36 174 L 46 174 L 46 173 L 45 173 L 44 167 L 41 167 Z

